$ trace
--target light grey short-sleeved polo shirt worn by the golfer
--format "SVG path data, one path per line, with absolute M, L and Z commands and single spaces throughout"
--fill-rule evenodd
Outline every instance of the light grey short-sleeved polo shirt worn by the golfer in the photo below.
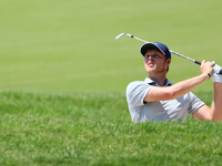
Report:
M 172 85 L 168 80 L 165 86 Z M 127 87 L 127 101 L 132 122 L 147 121 L 182 121 L 186 114 L 192 116 L 193 112 L 204 105 L 192 92 L 170 101 L 157 101 L 144 103 L 143 98 L 148 92 L 159 84 L 151 79 L 131 82 Z

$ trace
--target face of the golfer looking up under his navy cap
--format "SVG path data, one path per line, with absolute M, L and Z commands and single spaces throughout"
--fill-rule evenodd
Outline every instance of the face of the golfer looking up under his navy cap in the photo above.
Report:
M 144 68 L 149 74 L 167 73 L 170 62 L 171 60 L 167 60 L 165 55 L 157 49 L 148 50 L 144 55 Z

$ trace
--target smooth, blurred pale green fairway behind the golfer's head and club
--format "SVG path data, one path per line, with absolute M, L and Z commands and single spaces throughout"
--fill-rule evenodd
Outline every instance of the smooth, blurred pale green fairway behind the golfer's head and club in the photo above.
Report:
M 148 74 L 142 42 L 222 65 L 220 0 L 2 0 L 0 90 L 124 92 Z M 172 55 L 169 79 L 200 74 L 199 65 Z M 211 91 L 212 81 L 195 91 Z

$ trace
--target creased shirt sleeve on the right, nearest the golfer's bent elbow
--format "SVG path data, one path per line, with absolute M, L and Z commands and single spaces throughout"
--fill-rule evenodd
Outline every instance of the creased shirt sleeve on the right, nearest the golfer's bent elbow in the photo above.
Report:
M 192 114 L 202 105 L 205 105 L 199 97 L 196 97 L 192 92 L 189 93 L 190 105 L 188 108 L 188 114 L 192 116 Z

